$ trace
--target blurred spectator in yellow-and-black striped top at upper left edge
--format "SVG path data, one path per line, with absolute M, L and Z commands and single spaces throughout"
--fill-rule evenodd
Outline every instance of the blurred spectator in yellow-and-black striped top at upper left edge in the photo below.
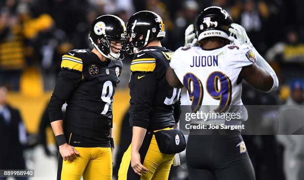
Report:
M 7 6 L 0 9 L 0 80 L 10 89 L 19 90 L 25 66 L 22 27 L 16 16 L 16 4 L 11 0 L 6 2 Z

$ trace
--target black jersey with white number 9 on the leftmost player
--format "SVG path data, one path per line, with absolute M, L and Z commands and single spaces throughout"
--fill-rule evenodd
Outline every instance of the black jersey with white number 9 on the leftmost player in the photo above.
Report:
M 62 57 L 61 68 L 51 103 L 66 100 L 65 131 L 108 144 L 113 96 L 122 61 L 102 62 L 89 49 L 73 50 Z M 50 107 L 51 121 L 60 120 L 56 113 L 52 117 Z

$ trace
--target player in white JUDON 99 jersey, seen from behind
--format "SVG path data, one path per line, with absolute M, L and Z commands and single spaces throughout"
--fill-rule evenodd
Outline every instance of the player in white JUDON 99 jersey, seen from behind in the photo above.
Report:
M 235 107 L 239 107 L 244 110 L 239 120 L 208 121 L 240 124 L 247 116 L 241 101 L 241 81 L 270 92 L 278 87 L 276 73 L 253 48 L 245 30 L 233 24 L 221 7 L 211 6 L 199 14 L 197 40 L 187 31 L 186 45 L 197 41 L 199 46 L 182 47 L 174 53 L 166 73 L 169 84 L 185 86 L 193 111 L 203 108 L 201 105 L 216 106 L 214 112 L 229 112 L 232 106 L 237 111 Z M 229 37 L 230 33 L 236 38 Z M 186 150 L 190 180 L 255 180 L 240 131 L 227 131 L 227 135 L 220 135 L 221 130 L 212 133 L 193 135 L 190 131 Z

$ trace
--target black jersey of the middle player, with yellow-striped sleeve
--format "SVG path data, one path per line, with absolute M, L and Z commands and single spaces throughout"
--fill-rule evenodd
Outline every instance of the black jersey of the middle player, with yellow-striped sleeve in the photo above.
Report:
M 172 55 L 164 47 L 148 47 L 134 56 L 129 82 L 131 126 L 157 130 L 178 121 L 174 108 L 179 106 L 181 89 L 172 88 L 165 77 Z

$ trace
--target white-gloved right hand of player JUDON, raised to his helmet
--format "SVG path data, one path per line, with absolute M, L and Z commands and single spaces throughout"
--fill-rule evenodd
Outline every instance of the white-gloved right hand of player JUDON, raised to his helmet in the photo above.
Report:
M 252 47 L 250 39 L 247 36 L 246 30 L 239 24 L 232 23 L 231 27 L 228 29 L 230 33 L 232 33 L 228 39 L 235 45 L 246 44 Z M 233 37 L 235 35 L 236 38 Z

